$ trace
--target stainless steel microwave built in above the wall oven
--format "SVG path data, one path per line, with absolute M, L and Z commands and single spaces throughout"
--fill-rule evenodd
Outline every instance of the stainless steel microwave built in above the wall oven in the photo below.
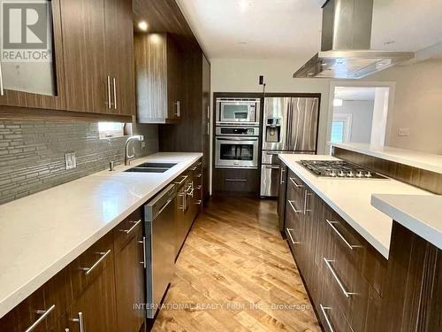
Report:
M 259 98 L 217 98 L 217 126 L 259 126 Z

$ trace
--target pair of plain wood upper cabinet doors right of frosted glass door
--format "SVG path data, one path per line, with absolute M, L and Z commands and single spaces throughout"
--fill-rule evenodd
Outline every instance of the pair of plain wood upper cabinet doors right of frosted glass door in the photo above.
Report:
M 132 0 L 60 0 L 66 109 L 134 113 Z

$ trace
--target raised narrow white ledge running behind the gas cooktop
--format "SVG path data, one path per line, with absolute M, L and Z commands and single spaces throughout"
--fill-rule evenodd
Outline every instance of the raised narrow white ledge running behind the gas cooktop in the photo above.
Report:
M 331 146 L 442 174 L 442 155 L 366 143 L 331 143 Z

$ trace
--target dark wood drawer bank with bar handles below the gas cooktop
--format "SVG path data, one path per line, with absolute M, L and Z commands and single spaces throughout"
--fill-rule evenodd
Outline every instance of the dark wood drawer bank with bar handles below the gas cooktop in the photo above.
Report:
M 375 332 L 367 321 L 378 307 L 369 298 L 381 297 L 386 259 L 290 170 L 285 214 L 287 242 L 324 330 Z

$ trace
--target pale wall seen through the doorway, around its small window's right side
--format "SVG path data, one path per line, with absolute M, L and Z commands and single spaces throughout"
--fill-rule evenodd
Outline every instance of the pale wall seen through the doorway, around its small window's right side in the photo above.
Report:
M 333 107 L 333 114 L 352 115 L 350 142 L 370 143 L 373 107 L 372 100 L 344 100 L 342 106 Z

